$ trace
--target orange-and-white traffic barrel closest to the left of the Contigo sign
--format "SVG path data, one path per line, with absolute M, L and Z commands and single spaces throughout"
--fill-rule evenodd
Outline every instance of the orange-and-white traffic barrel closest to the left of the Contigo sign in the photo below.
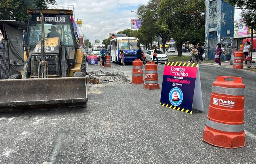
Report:
M 144 89 L 159 89 L 158 84 L 158 74 L 157 65 L 155 62 L 148 62 L 145 65 L 145 83 L 143 85 Z

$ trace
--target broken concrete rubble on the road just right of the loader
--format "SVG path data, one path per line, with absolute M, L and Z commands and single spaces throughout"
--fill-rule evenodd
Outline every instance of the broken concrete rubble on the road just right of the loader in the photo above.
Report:
M 99 83 L 124 84 L 128 81 L 123 72 L 94 70 L 88 72 L 93 78 L 98 78 Z

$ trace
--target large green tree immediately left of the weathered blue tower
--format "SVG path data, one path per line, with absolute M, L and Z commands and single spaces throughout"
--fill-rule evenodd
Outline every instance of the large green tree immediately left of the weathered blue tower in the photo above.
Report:
M 157 11 L 176 41 L 178 56 L 182 56 L 184 42 L 196 44 L 204 40 L 204 0 L 162 0 Z

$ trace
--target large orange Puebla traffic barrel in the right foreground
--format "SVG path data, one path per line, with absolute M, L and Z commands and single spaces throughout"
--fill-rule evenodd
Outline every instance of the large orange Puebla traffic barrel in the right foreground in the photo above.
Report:
M 213 82 L 203 141 L 229 149 L 245 146 L 244 89 L 241 77 L 218 76 Z

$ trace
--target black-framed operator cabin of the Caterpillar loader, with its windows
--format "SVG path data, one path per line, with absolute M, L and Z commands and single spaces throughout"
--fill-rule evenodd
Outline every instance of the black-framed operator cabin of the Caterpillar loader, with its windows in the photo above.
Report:
M 78 44 L 71 20 L 71 16 L 73 15 L 72 10 L 27 9 L 29 26 L 24 59 L 27 59 L 28 54 L 34 50 L 38 42 L 42 39 L 42 19 L 40 12 L 44 15 L 45 38 L 58 37 L 60 39 L 60 45 L 66 48 L 67 64 L 75 65 Z

